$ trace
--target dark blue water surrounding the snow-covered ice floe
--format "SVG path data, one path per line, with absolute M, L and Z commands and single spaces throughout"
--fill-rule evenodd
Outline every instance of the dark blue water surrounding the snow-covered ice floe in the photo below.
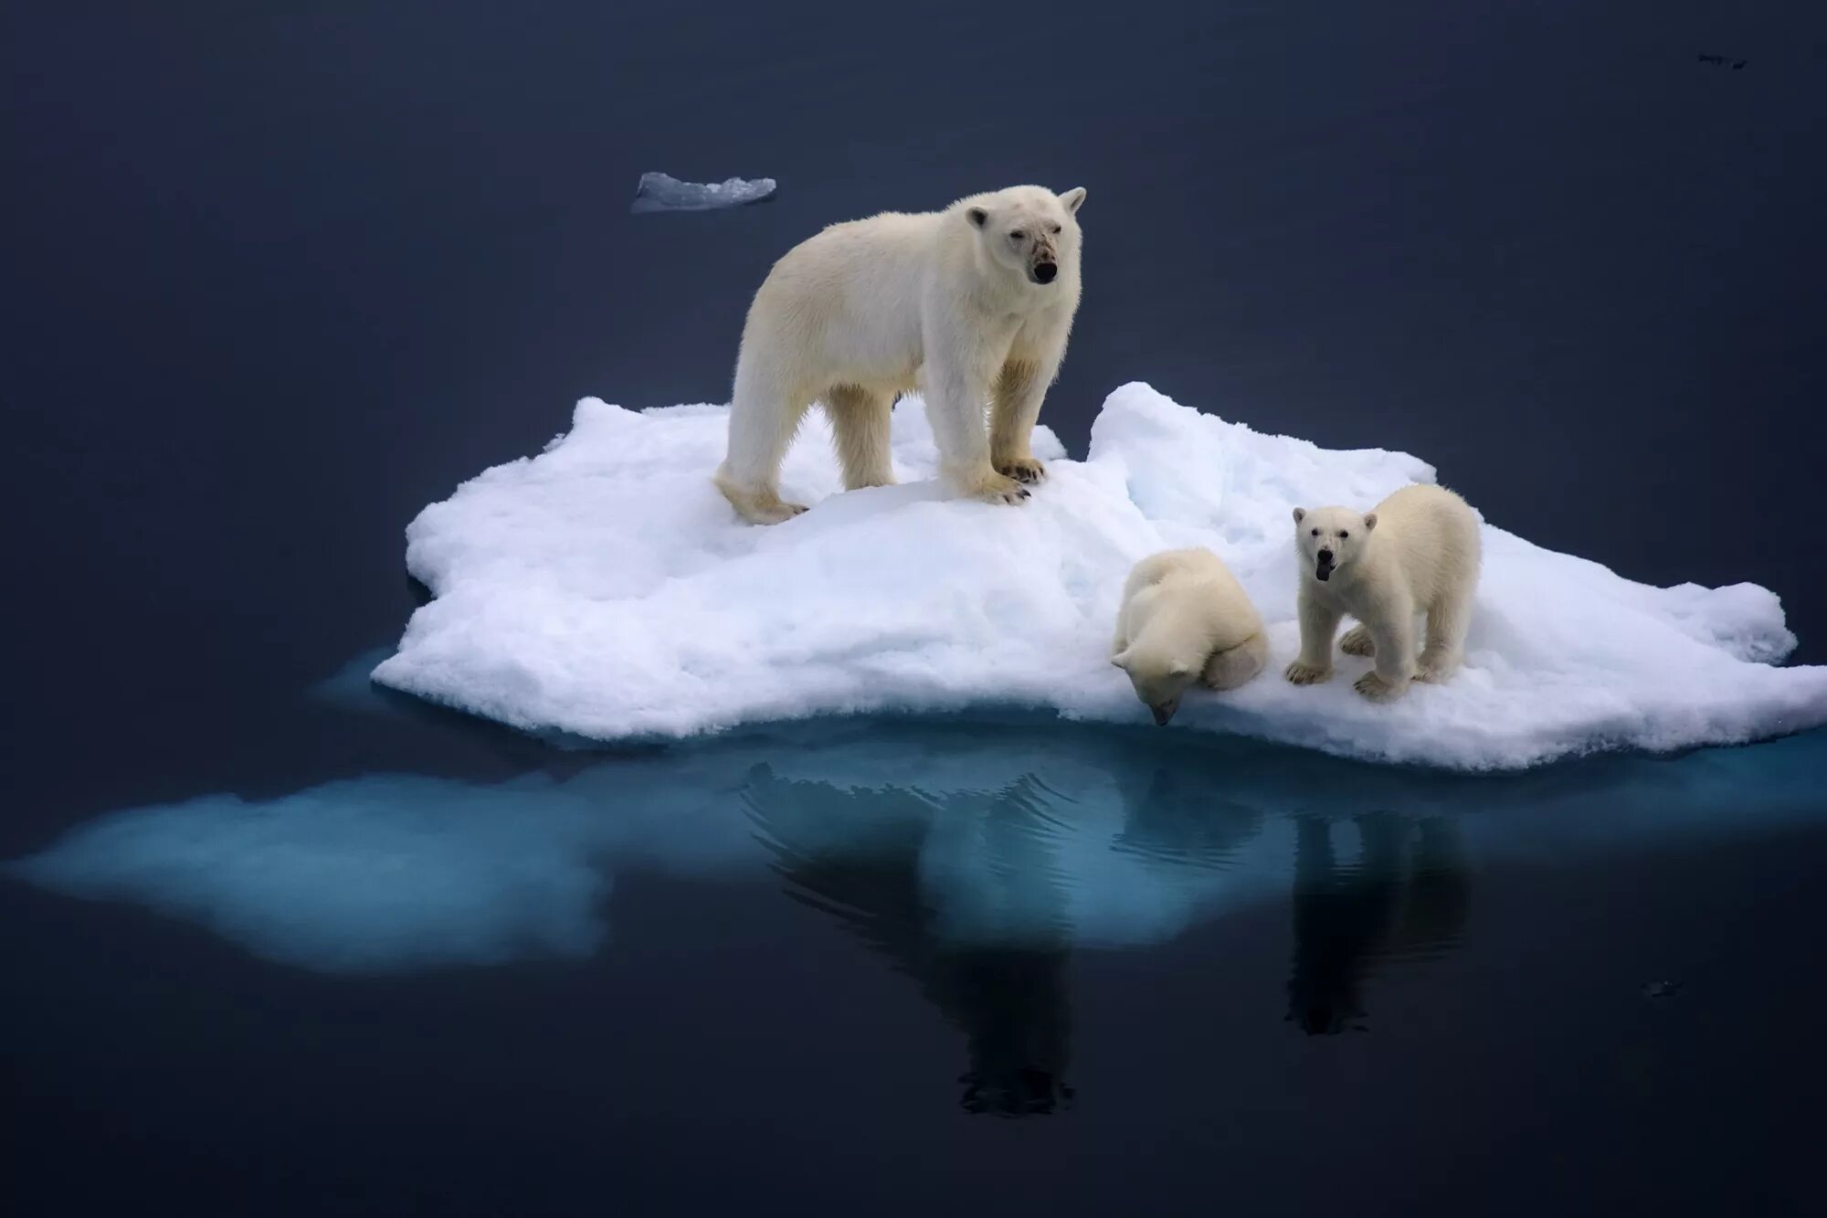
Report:
M 0 1203 L 1812 1209 L 1820 737 L 576 755 L 309 689 L 418 507 L 581 395 L 722 401 L 818 225 L 1029 179 L 1091 192 L 1074 452 L 1133 379 L 1405 448 L 1820 660 L 1823 53 L 1800 2 L 5 5 L 0 858 L 106 900 L 0 881 Z M 650 168 L 782 192 L 630 218 Z

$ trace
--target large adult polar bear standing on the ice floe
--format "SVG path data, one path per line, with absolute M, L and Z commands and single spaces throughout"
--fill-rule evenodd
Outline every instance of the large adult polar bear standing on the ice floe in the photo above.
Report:
M 742 327 L 716 470 L 736 512 L 775 525 L 806 510 L 780 497 L 780 461 L 813 402 L 831 419 L 844 488 L 893 483 L 888 417 L 915 388 L 952 490 L 1027 499 L 1023 483 L 1047 475 L 1029 437 L 1078 313 L 1083 201 L 1083 187 L 1010 187 L 831 225 L 787 251 Z

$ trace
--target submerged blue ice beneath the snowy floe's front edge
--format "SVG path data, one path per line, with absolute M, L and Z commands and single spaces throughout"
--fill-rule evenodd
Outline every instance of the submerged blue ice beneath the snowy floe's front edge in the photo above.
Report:
M 1421 894 L 1445 876 L 1451 892 L 1471 861 L 1818 817 L 1823 761 L 1827 733 L 1811 733 L 1469 777 L 1235 739 L 824 724 L 565 779 L 205 796 L 102 816 L 5 871 L 327 973 L 586 956 L 630 872 L 771 871 L 873 946 L 1125 946 L 1345 863 Z

